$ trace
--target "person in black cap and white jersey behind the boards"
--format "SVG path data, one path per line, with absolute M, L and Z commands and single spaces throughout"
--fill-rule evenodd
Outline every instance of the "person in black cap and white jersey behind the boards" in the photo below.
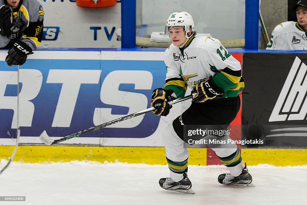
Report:
M 298 1 L 293 6 L 297 22 L 278 24 L 272 31 L 267 50 L 306 50 L 307 49 L 307 0 Z

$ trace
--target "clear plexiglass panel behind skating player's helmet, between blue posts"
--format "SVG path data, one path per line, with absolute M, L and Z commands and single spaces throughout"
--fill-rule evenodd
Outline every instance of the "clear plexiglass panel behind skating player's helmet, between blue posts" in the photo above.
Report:
M 173 12 L 192 15 L 197 33 L 211 34 L 219 40 L 244 38 L 245 0 L 137 0 L 137 36 L 150 37 L 164 32 Z

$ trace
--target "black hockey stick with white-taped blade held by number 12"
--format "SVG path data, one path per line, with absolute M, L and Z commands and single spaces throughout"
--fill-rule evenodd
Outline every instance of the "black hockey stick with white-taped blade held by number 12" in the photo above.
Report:
M 179 103 L 179 102 L 182 102 L 182 101 L 185 101 L 185 100 L 188 100 L 188 99 L 191 99 L 193 97 L 193 95 L 188 95 L 188 96 L 185 96 L 185 97 L 182 97 L 182 98 L 178 98 L 176 100 L 173 100 L 171 102 L 169 102 L 169 104 L 176 104 L 176 103 Z M 124 116 L 124 117 L 120 117 L 116 120 L 112 120 L 110 122 L 106 122 L 106 123 L 103 123 L 103 124 L 100 124 L 100 125 L 97 125 L 95 127 L 92 127 L 92 128 L 88 128 L 86 130 L 83 130 L 83 131 L 80 131 L 80 132 L 77 132 L 77 133 L 74 133 L 72 135 L 68 135 L 66 137 L 63 137 L 61 139 L 58 139 L 58 140 L 52 140 L 51 137 L 47 134 L 46 130 L 44 130 L 44 132 L 41 133 L 41 135 L 39 136 L 39 139 L 47 144 L 47 145 L 52 145 L 52 144 L 56 144 L 56 143 L 59 143 L 59 142 L 63 142 L 65 140 L 69 140 L 71 138 L 74 138 L 74 137 L 79 137 L 81 135 L 84 135 L 86 133 L 89 133 L 89 132 L 93 132 L 93 131 L 96 131 L 96 130 L 99 130 L 101 128 L 104 128 L 104 127 L 107 127 L 111 124 L 115 124 L 115 123 L 118 123 L 118 122 L 121 122 L 121 121 L 124 121 L 124 120 L 128 120 L 128 119 L 131 119 L 133 117 L 136 117 L 136 116 L 139 116 L 139 115 L 143 115 L 147 112 L 150 112 L 150 111 L 153 111 L 155 108 L 147 108 L 145 110 L 142 110 L 142 111 L 139 111 L 139 112 L 135 112 L 133 114 L 130 114 L 130 115 L 127 115 L 127 116 Z

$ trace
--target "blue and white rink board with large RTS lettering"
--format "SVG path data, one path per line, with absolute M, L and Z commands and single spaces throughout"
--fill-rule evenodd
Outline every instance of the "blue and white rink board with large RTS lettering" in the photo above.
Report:
M 41 144 L 44 130 L 59 139 L 149 108 L 152 90 L 165 83 L 163 53 L 35 51 L 19 68 L 20 143 Z M 6 52 L 0 54 L 5 59 Z M 242 61 L 242 54 L 233 55 Z M 17 66 L 0 61 L 0 78 L 0 144 L 14 145 Z M 189 104 L 174 105 L 166 117 L 149 112 L 60 144 L 161 147 L 164 128 Z

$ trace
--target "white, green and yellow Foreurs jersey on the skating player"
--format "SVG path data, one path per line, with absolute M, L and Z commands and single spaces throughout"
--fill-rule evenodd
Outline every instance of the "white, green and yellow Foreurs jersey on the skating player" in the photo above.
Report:
M 192 36 L 184 48 L 171 44 L 164 53 L 167 73 L 165 89 L 183 97 L 187 86 L 193 89 L 198 83 L 213 76 L 213 81 L 225 92 L 221 97 L 235 97 L 243 90 L 241 65 L 223 47 L 218 39 Z

